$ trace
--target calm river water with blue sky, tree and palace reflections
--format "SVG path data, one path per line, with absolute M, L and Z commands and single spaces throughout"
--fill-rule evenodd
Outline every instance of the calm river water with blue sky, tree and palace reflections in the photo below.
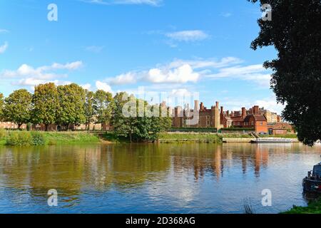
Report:
M 307 204 L 302 178 L 320 153 L 298 143 L 0 147 L 0 213 L 243 213 L 245 203 L 277 213 Z

